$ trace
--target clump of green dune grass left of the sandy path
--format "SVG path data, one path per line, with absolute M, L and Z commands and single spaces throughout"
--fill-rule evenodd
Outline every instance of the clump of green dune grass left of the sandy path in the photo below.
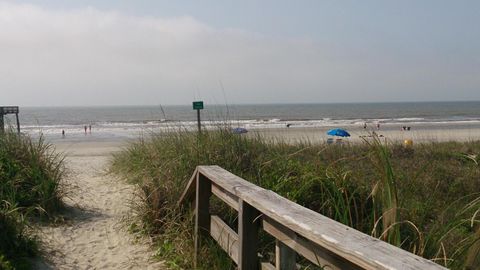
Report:
M 63 158 L 42 138 L 0 134 L 0 269 L 29 269 L 37 252 L 27 217 L 50 218 L 61 207 Z

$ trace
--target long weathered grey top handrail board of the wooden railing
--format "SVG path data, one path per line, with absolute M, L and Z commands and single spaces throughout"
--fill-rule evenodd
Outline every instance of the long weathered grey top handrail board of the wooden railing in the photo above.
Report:
M 272 220 L 359 267 L 446 269 L 255 186 L 218 166 L 199 166 L 198 170 Z

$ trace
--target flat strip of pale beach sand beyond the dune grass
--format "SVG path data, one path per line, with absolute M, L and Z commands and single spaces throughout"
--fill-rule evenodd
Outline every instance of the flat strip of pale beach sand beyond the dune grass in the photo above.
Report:
M 361 143 L 364 139 L 368 139 L 374 132 L 385 138 L 389 142 L 400 142 L 404 140 L 412 140 L 413 143 L 431 143 L 431 142 L 469 142 L 480 140 L 480 125 L 474 126 L 451 126 L 451 125 L 412 125 L 410 131 L 403 131 L 398 125 L 383 125 L 380 129 L 368 126 L 364 129 L 361 126 L 350 127 L 348 132 L 350 137 L 332 137 L 326 133 L 335 127 L 282 127 L 282 128 L 258 128 L 251 129 L 242 136 L 262 138 L 274 141 L 284 141 L 287 143 L 309 142 L 309 143 L 326 143 L 328 138 L 341 139 L 346 143 Z M 164 131 L 165 132 L 165 131 Z M 167 131 L 168 132 L 168 131 Z M 46 135 L 46 141 L 55 145 L 55 148 L 61 151 L 67 151 L 76 147 L 76 155 L 83 152 L 82 149 L 90 149 L 88 151 L 101 152 L 121 149 L 128 145 L 129 142 L 135 141 L 142 136 L 148 137 L 152 133 L 151 130 L 136 131 L 129 136 L 124 134 L 101 134 L 92 133 L 81 136 L 51 137 Z M 87 151 L 87 150 L 85 150 Z M 92 153 L 90 153 L 92 154 Z M 94 153 L 93 153 L 94 154 Z

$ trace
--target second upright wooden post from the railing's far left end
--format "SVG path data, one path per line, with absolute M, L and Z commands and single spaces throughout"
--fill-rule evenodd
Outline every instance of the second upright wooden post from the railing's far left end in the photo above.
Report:
M 258 218 L 260 212 L 257 209 L 240 201 L 238 210 L 238 237 L 239 237 L 239 270 L 258 270 L 259 260 L 258 250 L 258 230 L 261 224 L 261 218 Z

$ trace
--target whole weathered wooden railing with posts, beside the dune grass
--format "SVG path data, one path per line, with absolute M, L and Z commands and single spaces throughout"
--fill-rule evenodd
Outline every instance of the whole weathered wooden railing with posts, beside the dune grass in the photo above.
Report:
M 179 204 L 195 196 L 195 253 L 210 235 L 240 270 L 295 269 L 296 253 L 324 269 L 445 269 L 289 201 L 218 167 L 199 166 Z M 238 212 L 238 232 L 210 214 L 215 195 Z M 276 239 L 275 266 L 259 262 L 258 233 Z M 195 258 L 195 261 L 197 258 Z

